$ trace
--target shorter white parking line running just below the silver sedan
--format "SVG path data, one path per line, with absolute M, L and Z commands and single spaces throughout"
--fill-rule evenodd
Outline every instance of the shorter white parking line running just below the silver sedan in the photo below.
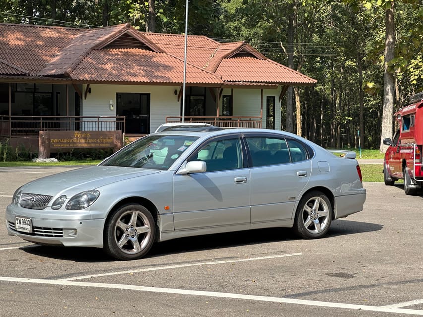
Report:
M 174 268 L 183 268 L 183 267 L 199 266 L 199 265 L 212 265 L 212 264 L 266 260 L 266 259 L 284 258 L 284 257 L 301 256 L 301 255 L 302 255 L 302 253 L 289 253 L 289 254 L 279 254 L 279 255 L 274 255 L 274 256 L 264 256 L 264 257 L 236 259 L 236 260 L 232 259 L 232 260 L 220 260 L 220 261 L 210 261 L 210 262 L 197 262 L 197 263 L 180 264 L 180 265 L 156 266 L 156 267 L 141 268 L 141 269 L 130 270 L 130 271 L 120 271 L 120 272 L 111 272 L 111 273 L 77 276 L 77 277 L 70 277 L 70 278 L 61 278 L 61 279 L 57 279 L 57 281 L 76 281 L 78 279 L 87 279 L 87 278 L 101 277 L 101 276 L 111 276 L 111 275 L 121 275 L 121 274 L 131 274 L 131 273 L 139 273 L 139 272 L 157 271 L 157 270 L 161 270 L 161 269 L 174 269 Z

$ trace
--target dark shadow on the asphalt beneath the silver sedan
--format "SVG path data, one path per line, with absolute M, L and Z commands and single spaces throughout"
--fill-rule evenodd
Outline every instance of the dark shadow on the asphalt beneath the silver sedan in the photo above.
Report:
M 328 231 L 326 237 L 336 237 L 348 234 L 360 234 L 365 232 L 379 231 L 383 225 L 376 223 L 366 223 L 350 220 L 336 220 Z M 282 242 L 298 240 L 294 232 L 289 228 L 270 228 L 248 231 L 237 231 L 229 233 L 219 233 L 187 238 L 168 240 L 153 245 L 147 258 L 160 257 L 169 254 L 179 254 L 184 252 L 195 252 L 204 250 L 214 250 L 229 247 L 239 247 L 246 245 L 257 245 L 269 242 Z M 98 248 L 83 247 L 54 247 L 37 246 L 22 247 L 22 251 L 27 253 L 60 260 L 75 262 L 110 262 L 118 261 Z

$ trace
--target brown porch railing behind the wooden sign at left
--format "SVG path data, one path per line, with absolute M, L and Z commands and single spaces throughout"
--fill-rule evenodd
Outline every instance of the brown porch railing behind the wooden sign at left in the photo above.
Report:
M 0 115 L 0 136 L 37 136 L 39 131 L 115 131 L 125 133 L 125 117 Z

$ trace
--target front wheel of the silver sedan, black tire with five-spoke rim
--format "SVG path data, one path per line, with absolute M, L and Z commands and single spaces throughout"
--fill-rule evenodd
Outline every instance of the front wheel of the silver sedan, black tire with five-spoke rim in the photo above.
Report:
M 150 211 L 138 204 L 128 204 L 115 211 L 104 230 L 104 250 L 119 260 L 142 258 L 151 249 L 156 224 Z

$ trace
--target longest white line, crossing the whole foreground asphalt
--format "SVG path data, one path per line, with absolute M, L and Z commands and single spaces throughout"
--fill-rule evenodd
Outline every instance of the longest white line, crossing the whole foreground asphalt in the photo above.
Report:
M 250 300 L 250 301 L 264 301 L 264 302 L 275 302 L 275 303 L 284 303 L 284 304 L 321 306 L 321 307 L 340 308 L 340 309 L 353 309 L 353 310 L 362 310 L 362 311 L 423 316 L 423 310 L 390 308 L 385 306 L 331 303 L 331 302 L 309 301 L 309 300 L 301 300 L 301 299 L 293 299 L 293 298 L 246 295 L 246 294 L 236 294 L 236 293 L 221 293 L 221 292 L 196 291 L 196 290 L 175 289 L 175 288 L 147 287 L 147 286 L 138 286 L 138 285 L 88 283 L 88 282 L 58 281 L 58 280 L 1 277 L 1 276 L 0 276 L 0 281 L 49 284 L 49 285 L 61 285 L 61 286 L 81 286 L 81 287 L 96 287 L 96 288 L 109 288 L 109 289 L 124 289 L 124 290 L 131 290 L 131 291 L 135 290 L 135 291 L 142 291 L 142 292 L 180 294 L 180 295 L 223 297 L 223 298 Z

